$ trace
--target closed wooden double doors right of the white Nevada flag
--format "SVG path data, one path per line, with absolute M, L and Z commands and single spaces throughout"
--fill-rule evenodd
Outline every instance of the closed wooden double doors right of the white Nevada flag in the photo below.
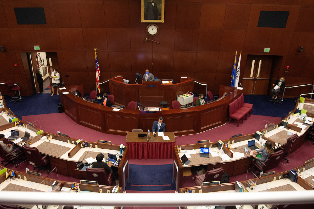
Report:
M 272 55 L 247 55 L 242 78 L 243 94 L 267 94 Z

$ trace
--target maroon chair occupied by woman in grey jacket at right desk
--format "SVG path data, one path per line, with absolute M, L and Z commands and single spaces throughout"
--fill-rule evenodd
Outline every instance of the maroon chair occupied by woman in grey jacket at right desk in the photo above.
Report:
M 258 161 L 257 159 L 254 159 L 254 161 L 252 161 L 252 166 L 254 167 L 254 170 L 258 169 L 258 170 L 260 170 L 260 172 L 263 171 L 265 173 L 268 170 L 272 170 L 272 169 L 276 168 L 279 165 L 280 160 L 281 160 L 283 155 L 284 155 L 283 150 L 280 150 L 278 152 L 274 152 L 274 153 L 270 154 L 268 156 L 268 160 L 265 163 L 259 161 L 263 166 L 261 166 L 257 163 L 257 161 Z

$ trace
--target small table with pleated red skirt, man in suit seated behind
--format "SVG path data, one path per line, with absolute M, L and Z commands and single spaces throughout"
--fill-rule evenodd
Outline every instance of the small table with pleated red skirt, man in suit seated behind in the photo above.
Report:
M 173 156 L 173 146 L 176 145 L 173 132 L 164 132 L 170 140 L 164 141 L 161 136 L 152 138 L 138 137 L 139 132 L 127 133 L 127 146 L 129 147 L 130 159 L 171 159 Z M 149 142 L 146 140 L 149 139 Z

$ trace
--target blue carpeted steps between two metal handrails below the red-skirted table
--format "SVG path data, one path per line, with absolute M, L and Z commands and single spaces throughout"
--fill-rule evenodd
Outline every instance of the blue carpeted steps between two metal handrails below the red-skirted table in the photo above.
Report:
M 175 190 L 172 183 L 172 165 L 130 164 L 130 184 L 126 190 L 165 191 Z

